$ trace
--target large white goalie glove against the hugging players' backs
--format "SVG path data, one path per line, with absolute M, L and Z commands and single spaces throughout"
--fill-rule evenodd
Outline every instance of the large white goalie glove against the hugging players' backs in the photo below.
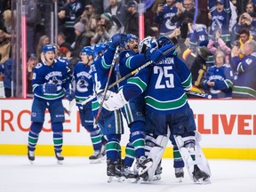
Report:
M 102 99 L 102 94 L 97 96 L 98 102 L 101 102 Z M 109 111 L 114 111 L 118 108 L 123 108 L 126 103 L 128 103 L 128 101 L 124 98 L 123 89 L 121 89 L 119 92 L 108 91 L 103 102 L 103 108 L 106 108 Z

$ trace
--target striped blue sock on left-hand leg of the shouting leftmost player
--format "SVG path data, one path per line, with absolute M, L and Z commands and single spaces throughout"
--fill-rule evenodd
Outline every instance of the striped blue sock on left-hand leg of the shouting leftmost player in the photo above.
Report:
M 28 150 L 34 151 L 36 149 L 36 143 L 41 132 L 43 123 L 33 122 L 30 126 L 30 131 L 28 133 Z

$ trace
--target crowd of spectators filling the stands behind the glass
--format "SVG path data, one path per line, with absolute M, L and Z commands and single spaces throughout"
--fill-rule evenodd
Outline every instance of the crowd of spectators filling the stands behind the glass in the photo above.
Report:
M 40 61 L 44 44 L 50 43 L 47 6 L 54 1 L 24 2 L 29 12 L 28 60 Z M 179 55 L 192 72 L 196 92 L 208 92 L 214 98 L 256 97 L 255 0 L 208 0 L 207 14 L 198 8 L 203 0 L 59 0 L 55 43 L 59 55 L 74 67 L 84 46 L 108 42 L 116 33 L 139 36 L 141 2 L 145 3 L 144 36 L 172 38 L 173 34 L 179 36 L 182 23 L 188 24 Z M 17 13 L 11 1 L 1 0 L 0 4 L 0 81 L 5 81 L 5 97 L 11 97 L 10 71 L 4 66 L 11 65 L 12 17 Z M 209 22 L 201 23 L 202 17 Z

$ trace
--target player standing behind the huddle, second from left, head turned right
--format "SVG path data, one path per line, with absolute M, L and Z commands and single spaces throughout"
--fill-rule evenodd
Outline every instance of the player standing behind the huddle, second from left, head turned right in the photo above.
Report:
M 79 109 L 81 124 L 90 133 L 93 154 L 89 156 L 92 164 L 100 163 L 105 157 L 105 144 L 100 128 L 93 128 L 92 102 L 82 105 L 82 102 L 92 96 L 93 82 L 91 75 L 91 64 L 93 62 L 94 50 L 91 46 L 85 46 L 80 52 L 81 61 L 76 63 L 74 77 L 76 81 L 76 106 Z

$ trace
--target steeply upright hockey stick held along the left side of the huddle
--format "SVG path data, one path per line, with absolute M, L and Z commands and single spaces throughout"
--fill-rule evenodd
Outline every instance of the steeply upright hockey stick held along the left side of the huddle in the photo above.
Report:
M 101 109 L 103 108 L 103 102 L 105 101 L 106 99 L 106 95 L 107 95 L 107 92 L 108 92 L 108 84 L 109 84 L 109 81 L 110 81 L 110 77 L 112 75 L 112 71 L 113 69 L 115 68 L 115 64 L 116 64 L 116 57 L 118 56 L 118 50 L 119 50 L 119 46 L 116 47 L 116 52 L 114 54 L 114 58 L 112 60 L 112 63 L 111 63 L 111 67 L 108 71 L 108 79 L 107 79 L 107 83 L 105 85 L 105 88 L 103 90 L 103 97 L 102 97 L 102 100 L 100 102 L 100 108 L 98 109 L 98 112 L 97 112 L 97 115 L 95 117 L 95 121 L 94 121 L 94 125 L 93 127 L 96 128 L 97 127 L 97 124 L 98 124 L 98 121 L 99 121 L 99 117 L 100 117 L 100 112 L 101 112 Z M 82 103 L 83 104 L 83 103 Z

